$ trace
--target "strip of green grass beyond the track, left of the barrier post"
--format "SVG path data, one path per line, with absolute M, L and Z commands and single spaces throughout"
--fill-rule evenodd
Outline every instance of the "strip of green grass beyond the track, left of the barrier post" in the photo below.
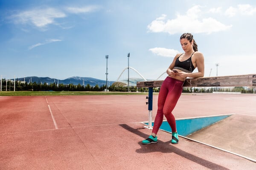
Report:
M 0 91 L 0 96 L 145 95 L 148 92 L 105 91 Z

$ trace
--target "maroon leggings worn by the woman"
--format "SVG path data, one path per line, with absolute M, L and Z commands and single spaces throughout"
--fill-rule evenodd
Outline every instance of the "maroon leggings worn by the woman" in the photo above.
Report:
M 160 88 L 157 102 L 157 115 L 154 120 L 152 133 L 157 134 L 163 123 L 163 115 L 166 116 L 167 122 L 172 128 L 172 132 L 176 132 L 175 117 L 172 114 L 175 105 L 180 98 L 183 89 L 183 81 L 166 77 Z

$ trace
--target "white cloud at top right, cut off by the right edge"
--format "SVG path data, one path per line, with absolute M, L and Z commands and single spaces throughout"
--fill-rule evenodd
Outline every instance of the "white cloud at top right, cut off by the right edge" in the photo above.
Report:
M 230 6 L 225 11 L 225 14 L 228 17 L 234 17 L 237 14 L 250 16 L 256 14 L 256 7 L 253 7 L 249 4 L 240 4 L 237 7 Z

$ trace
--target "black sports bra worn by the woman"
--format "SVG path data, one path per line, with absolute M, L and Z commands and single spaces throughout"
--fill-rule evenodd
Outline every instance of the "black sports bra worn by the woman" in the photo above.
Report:
M 179 69 L 181 71 L 184 71 L 186 73 L 192 73 L 195 70 L 194 65 L 192 64 L 191 61 L 191 57 L 192 55 L 195 53 L 195 51 L 191 54 L 191 56 L 189 57 L 189 59 L 185 60 L 185 61 L 180 61 L 179 58 L 182 54 L 180 54 L 179 57 L 177 57 L 176 61 L 175 61 L 175 67 L 173 69 Z

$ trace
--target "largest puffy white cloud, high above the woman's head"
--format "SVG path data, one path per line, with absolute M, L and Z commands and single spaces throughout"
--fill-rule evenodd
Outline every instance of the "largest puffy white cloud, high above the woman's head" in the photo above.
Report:
M 201 6 L 193 6 L 185 15 L 176 14 L 176 18 L 166 20 L 166 15 L 152 21 L 148 25 L 150 32 L 167 32 L 169 34 L 177 34 L 184 32 L 207 33 L 224 31 L 230 29 L 232 25 L 226 26 L 212 17 L 201 18 Z

